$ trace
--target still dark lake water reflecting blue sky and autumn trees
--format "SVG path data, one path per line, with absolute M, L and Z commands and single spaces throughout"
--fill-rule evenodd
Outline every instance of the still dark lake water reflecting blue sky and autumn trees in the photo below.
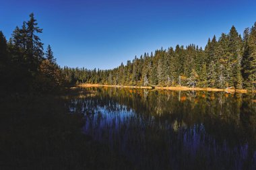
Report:
M 136 169 L 256 169 L 256 95 L 94 87 L 67 105 Z

